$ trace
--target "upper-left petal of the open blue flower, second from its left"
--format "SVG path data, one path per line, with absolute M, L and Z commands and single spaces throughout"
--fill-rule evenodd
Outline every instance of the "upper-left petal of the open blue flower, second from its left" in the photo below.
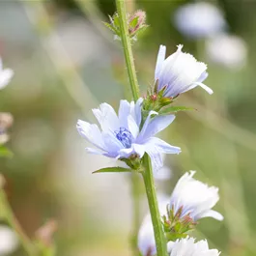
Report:
M 115 131 L 120 128 L 119 119 L 111 105 L 102 103 L 100 104 L 100 108 L 93 109 L 93 113 L 103 131 Z

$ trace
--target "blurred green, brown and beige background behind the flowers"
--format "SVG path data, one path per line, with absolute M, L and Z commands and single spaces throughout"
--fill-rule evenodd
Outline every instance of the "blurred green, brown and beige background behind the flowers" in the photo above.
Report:
M 179 43 L 208 64 L 205 83 L 214 91 L 210 97 L 197 88 L 178 100 L 197 111 L 178 114 L 162 133 L 183 153 L 166 156 L 173 178 L 157 188 L 171 193 L 185 171 L 197 170 L 196 178 L 219 186 L 216 210 L 225 219 L 203 219 L 193 235 L 207 238 L 221 255 L 256 255 L 256 2 L 211 1 L 222 10 L 229 33 L 247 45 L 239 70 L 210 62 L 204 40 L 188 39 L 176 29 L 172 17 L 188 2 L 127 1 L 128 11 L 144 10 L 150 25 L 133 47 L 142 94 L 153 84 L 159 44 L 171 54 Z M 86 142 L 75 128 L 77 119 L 93 120 L 91 108 L 100 102 L 118 107 L 128 93 L 122 47 L 101 23 L 114 13 L 114 1 L 106 0 L 0 1 L 0 55 L 14 70 L 0 94 L 1 111 L 14 115 L 8 143 L 14 157 L 0 159 L 0 172 L 29 236 L 48 218 L 58 221 L 61 256 L 130 253 L 128 176 L 92 175 L 114 162 L 86 155 Z M 143 217 L 143 193 L 141 208 Z

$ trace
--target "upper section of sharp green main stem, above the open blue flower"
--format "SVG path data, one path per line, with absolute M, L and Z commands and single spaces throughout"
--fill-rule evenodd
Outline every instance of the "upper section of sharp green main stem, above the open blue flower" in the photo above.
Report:
M 128 78 L 130 83 L 130 88 L 134 100 L 139 99 L 139 85 L 135 71 L 134 59 L 131 50 L 131 43 L 128 34 L 128 21 L 125 0 L 116 0 L 117 12 L 119 15 L 120 29 L 121 29 L 121 39 L 124 47 L 124 53 L 128 68 Z

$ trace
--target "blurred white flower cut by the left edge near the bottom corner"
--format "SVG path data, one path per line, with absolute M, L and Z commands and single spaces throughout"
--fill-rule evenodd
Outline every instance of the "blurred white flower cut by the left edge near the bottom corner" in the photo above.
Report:
M 0 226 L 0 255 L 5 256 L 14 252 L 17 245 L 18 240 L 14 231 L 7 226 Z

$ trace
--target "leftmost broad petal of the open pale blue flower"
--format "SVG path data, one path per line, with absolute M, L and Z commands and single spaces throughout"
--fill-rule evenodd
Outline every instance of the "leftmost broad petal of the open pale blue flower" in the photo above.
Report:
M 97 125 L 91 125 L 82 120 L 77 121 L 76 128 L 79 134 L 87 141 L 98 147 L 100 150 L 105 151 L 105 145 L 100 132 L 100 128 Z

